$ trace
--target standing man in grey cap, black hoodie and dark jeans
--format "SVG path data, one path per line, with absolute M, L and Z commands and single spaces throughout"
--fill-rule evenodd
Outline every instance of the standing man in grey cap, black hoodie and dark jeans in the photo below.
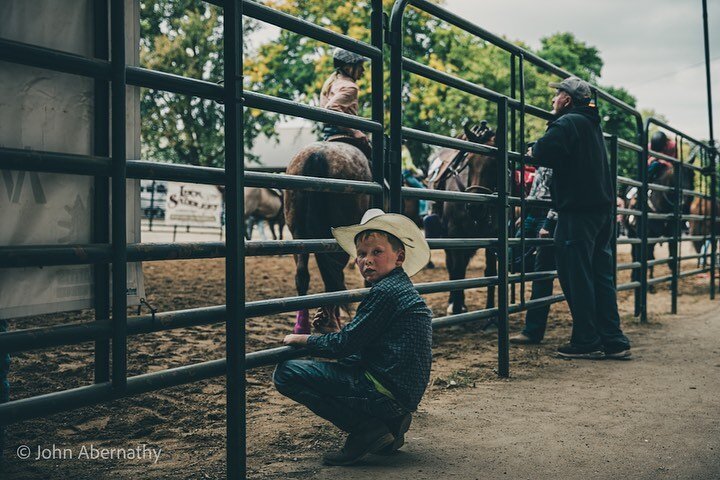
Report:
M 554 170 L 557 270 L 573 318 L 570 342 L 558 348 L 558 355 L 629 358 L 630 342 L 620 328 L 613 281 L 615 192 L 600 115 L 587 82 L 570 77 L 550 86 L 557 88 L 552 100 L 555 120 L 528 155 Z

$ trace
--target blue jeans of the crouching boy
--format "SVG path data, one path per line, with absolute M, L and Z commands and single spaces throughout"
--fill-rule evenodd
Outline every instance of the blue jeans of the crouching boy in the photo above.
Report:
M 275 368 L 273 382 L 278 392 L 348 433 L 363 430 L 373 420 L 407 413 L 395 400 L 378 392 L 357 365 L 288 360 Z

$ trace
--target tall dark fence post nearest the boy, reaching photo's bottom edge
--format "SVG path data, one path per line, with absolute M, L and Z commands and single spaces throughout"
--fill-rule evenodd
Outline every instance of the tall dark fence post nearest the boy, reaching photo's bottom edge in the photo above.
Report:
M 245 402 L 245 237 L 242 232 L 244 148 L 242 143 L 242 1 L 225 2 L 225 349 L 227 478 L 245 478 L 247 469 Z

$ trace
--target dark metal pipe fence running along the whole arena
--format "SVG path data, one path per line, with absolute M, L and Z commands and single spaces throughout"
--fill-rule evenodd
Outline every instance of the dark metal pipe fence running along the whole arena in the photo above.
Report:
M 0 424 L 7 425 L 30 418 L 42 417 L 83 406 L 108 402 L 114 399 L 139 395 L 171 386 L 182 385 L 202 379 L 225 375 L 227 385 L 227 474 L 229 478 L 243 478 L 246 471 L 246 432 L 245 432 L 245 371 L 262 365 L 272 365 L 279 361 L 302 356 L 302 350 L 281 347 L 270 350 L 245 351 L 245 325 L 247 318 L 293 311 L 299 308 L 313 308 L 337 303 L 356 302 L 367 293 L 367 289 L 349 290 L 328 294 L 307 295 L 304 297 L 277 298 L 254 302 L 245 302 L 244 295 L 244 259 L 253 255 L 277 255 L 291 253 L 336 252 L 339 247 L 332 240 L 291 240 L 245 242 L 242 234 L 242 192 L 245 186 L 262 186 L 282 189 L 300 189 L 324 192 L 344 192 L 370 194 L 377 206 L 385 206 L 390 211 L 400 211 L 401 199 L 426 198 L 432 200 L 478 202 L 496 209 L 500 225 L 506 225 L 510 215 L 509 207 L 519 206 L 524 211 L 528 201 L 523 195 L 513 197 L 508 190 L 507 169 L 524 169 L 525 138 L 515 138 L 516 122 L 520 131 L 524 131 L 525 114 L 540 118 L 550 118 L 546 110 L 525 103 L 523 68 L 530 62 L 538 68 L 552 72 L 560 77 L 570 75 L 534 54 L 520 49 L 501 38 L 487 32 L 456 15 L 426 0 L 398 0 L 384 28 L 381 0 L 372 0 L 371 42 L 363 43 L 350 37 L 337 34 L 329 29 L 311 24 L 285 13 L 273 10 L 258 3 L 244 1 L 213 0 L 210 3 L 224 8 L 224 85 L 201 80 L 170 75 L 138 67 L 129 67 L 125 62 L 124 2 L 111 0 L 110 20 L 108 22 L 108 2 L 95 0 L 95 56 L 85 58 L 48 48 L 22 44 L 0 39 L 0 60 L 39 67 L 95 80 L 95 152 L 92 156 L 70 155 L 62 152 L 40 152 L 27 150 L 0 149 L 0 168 L 11 170 L 62 172 L 95 177 L 97 212 L 107 211 L 109 198 L 125 197 L 125 181 L 128 178 L 140 178 L 163 181 L 192 181 L 212 185 L 224 185 L 226 188 L 227 239 L 225 243 L 198 243 L 191 245 L 127 244 L 125 240 L 125 206 L 123 202 L 113 202 L 110 218 L 101 214 L 95 218 L 94 241 L 80 246 L 30 246 L 0 247 L 0 266 L 4 268 L 92 264 L 96 267 L 95 320 L 83 324 L 61 325 L 48 328 L 18 330 L 0 334 L 0 351 L 16 353 L 21 351 L 56 347 L 81 342 L 95 342 L 95 383 L 80 388 L 39 395 L 0 405 Z M 403 57 L 402 21 L 408 5 L 456 25 L 459 28 L 483 40 L 493 43 L 510 53 L 512 69 L 512 95 L 505 96 L 478 85 L 455 77 L 431 67 Z M 339 114 L 316 107 L 264 95 L 243 91 L 242 85 L 242 16 L 255 18 L 283 29 L 336 45 L 359 53 L 371 59 L 372 65 L 372 118 L 359 118 Z M 104 40 L 110 32 L 110 44 Z M 386 31 L 385 31 L 386 30 Z M 384 137 L 385 126 L 383 111 L 383 40 L 387 34 L 391 55 L 390 71 L 390 136 L 389 143 Z M 403 127 L 402 124 L 402 74 L 409 72 L 428 79 L 444 83 L 492 101 L 498 107 L 497 146 L 485 147 L 429 132 Z M 225 169 L 203 168 L 184 165 L 158 164 L 146 161 L 128 160 L 125 152 L 125 99 L 126 85 L 160 89 L 182 95 L 191 95 L 204 99 L 223 102 L 225 105 Z M 519 96 L 516 96 L 519 95 Z M 598 90 L 598 98 L 616 105 L 635 119 L 637 136 L 632 140 L 608 137 L 610 157 L 616 168 L 618 149 L 636 152 L 641 181 L 619 178 L 620 183 L 640 188 L 641 210 L 618 210 L 621 214 L 635 214 L 642 217 L 643 228 L 652 219 L 646 205 L 647 179 L 644 162 L 647 151 L 647 131 L 641 115 L 632 107 L 609 94 Z M 111 104 L 111 109 L 108 107 Z M 304 117 L 318 122 L 332 122 L 340 126 L 357 128 L 371 133 L 373 141 L 372 182 L 352 182 L 333 179 L 317 179 L 299 176 L 279 176 L 257 172 L 245 172 L 243 167 L 243 143 L 238 135 L 243 129 L 243 108 L 258 108 L 285 115 Z M 657 121 L 653 124 L 658 125 Z M 701 149 L 707 163 L 714 167 L 714 151 L 667 125 L 663 128 L 674 132 L 687 141 L 702 145 Z M 509 132 L 513 132 L 509 134 Z M 509 138 L 510 137 L 510 138 Z M 110 147 L 110 138 L 115 141 Z M 505 169 L 500 169 L 498 192 L 492 195 L 475 193 L 451 193 L 428 191 L 402 187 L 400 172 L 400 148 L 403 138 L 426 142 L 432 145 L 455 148 L 468 152 L 496 155 Z M 654 152 L 653 152 L 654 153 Z M 682 161 L 682 160 L 681 160 Z M 386 178 L 385 167 L 389 167 Z M 714 169 L 713 169 L 714 172 Z M 710 192 L 702 193 L 705 198 L 715 198 L 715 175 L 710 176 Z M 107 182 L 110 179 L 111 188 Z M 676 195 L 698 194 L 697 192 L 679 192 Z M 699 195 L 699 194 L 698 194 Z M 537 204 L 538 202 L 534 202 Z M 542 202 L 540 202 L 542 203 Z M 716 218 L 715 202 L 711 202 L 711 219 Z M 703 216 L 705 218 L 706 216 Z M 674 219 L 688 218 L 675 213 Z M 714 294 L 715 272 L 715 232 L 713 228 L 707 237 L 712 242 L 711 266 L 702 271 L 710 271 L 711 295 Z M 112 235 L 110 234 L 112 226 Z M 644 231 L 644 230 L 643 230 Z M 677 239 L 677 238 L 676 238 Z M 643 249 L 639 262 L 618 265 L 618 269 L 639 271 L 638 278 L 630 283 L 618 285 L 618 290 L 635 291 L 638 299 L 638 313 L 645 318 L 648 280 L 647 246 L 656 239 L 623 239 L 618 243 L 637 243 Z M 554 278 L 555 272 L 526 273 L 510 275 L 508 272 L 508 248 L 512 245 L 542 245 L 547 240 L 509 238 L 506 228 L 500 228 L 498 238 L 481 239 L 435 239 L 429 243 L 433 249 L 469 248 L 494 246 L 498 250 L 499 268 L 496 277 L 472 278 L 417 284 L 421 294 L 443 292 L 456 289 L 482 288 L 496 286 L 498 306 L 491 310 L 479 310 L 436 318 L 434 328 L 459 323 L 477 321 L 496 316 L 499 320 L 498 331 L 498 373 L 509 375 L 508 316 L 530 308 L 559 302 L 562 295 L 554 295 L 533 301 L 526 301 L 525 282 L 538 278 Z M 707 256 L 707 254 L 705 255 Z M 153 315 L 128 317 L 124 295 L 125 266 L 127 262 L 150 260 L 178 260 L 199 258 L 226 258 L 226 304 L 190 310 L 162 312 Z M 690 257 L 685 257 L 690 258 Z M 680 256 L 675 254 L 677 263 Z M 112 302 L 110 302 L 109 266 L 112 266 Z M 677 270 L 676 270 L 677 272 Z M 691 275 L 697 271 L 683 272 Z M 658 281 L 661 279 L 657 279 Z M 663 281 L 665 279 L 662 279 Z M 519 302 L 510 302 L 508 287 L 520 286 Z M 677 296 L 677 278 L 673 279 L 673 295 Z M 157 332 L 190 326 L 224 322 L 226 325 L 226 358 L 148 373 L 127 376 L 126 356 L 129 335 Z M 112 347 L 112 348 L 110 348 Z M 111 354 L 112 352 L 112 354 Z M 111 361 L 112 359 L 112 361 Z

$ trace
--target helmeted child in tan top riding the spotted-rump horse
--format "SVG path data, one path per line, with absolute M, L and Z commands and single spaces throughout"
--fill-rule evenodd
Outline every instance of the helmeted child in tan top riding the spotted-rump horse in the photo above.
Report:
M 335 71 L 325 80 L 320 91 L 320 106 L 328 110 L 358 114 L 358 85 L 357 81 L 365 73 L 363 65 L 367 58 L 357 53 L 336 48 L 333 52 L 333 65 Z M 359 148 L 370 158 L 370 142 L 360 130 L 337 125 L 325 124 L 323 127 L 324 141 L 345 142 Z

